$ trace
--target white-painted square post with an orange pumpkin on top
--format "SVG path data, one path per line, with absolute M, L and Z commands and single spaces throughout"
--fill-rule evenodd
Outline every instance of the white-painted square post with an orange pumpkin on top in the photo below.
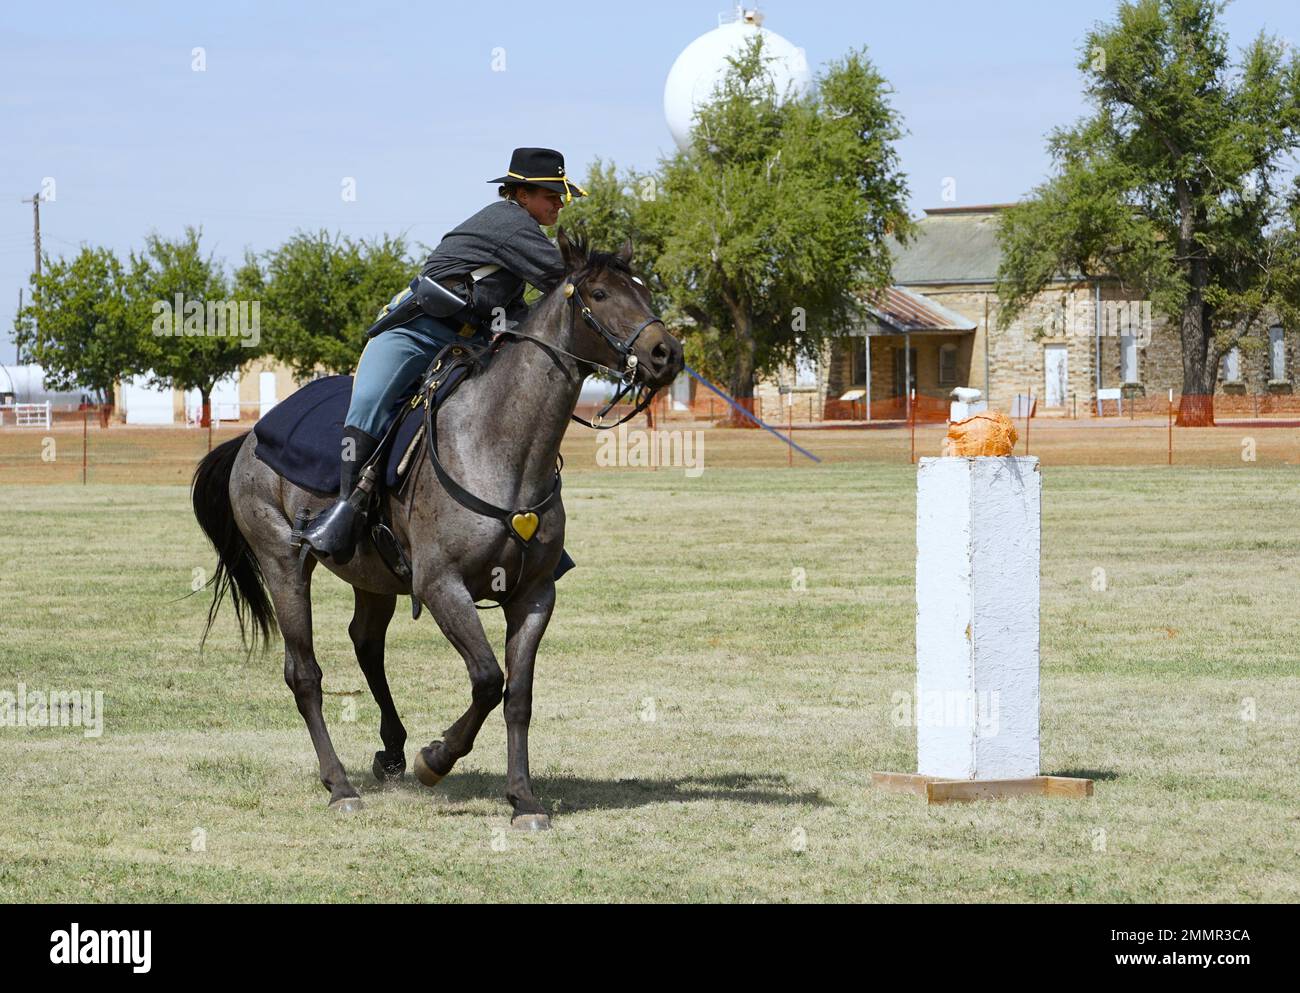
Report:
M 1041 478 L 1032 456 L 920 460 L 920 776 L 1039 775 Z

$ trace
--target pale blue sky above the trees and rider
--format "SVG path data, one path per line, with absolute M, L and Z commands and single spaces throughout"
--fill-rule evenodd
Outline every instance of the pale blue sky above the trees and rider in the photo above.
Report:
M 235 261 L 298 229 L 406 233 L 436 244 L 488 203 L 515 146 L 649 168 L 672 139 L 663 83 L 718 25 L 723 0 L 551 6 L 62 3 L 0 14 L 0 361 L 32 261 L 31 207 L 51 253 L 121 255 L 146 231 L 202 225 Z M 759 4 L 816 70 L 866 47 L 896 90 L 914 213 L 1023 196 L 1046 172 L 1044 136 L 1086 108 L 1074 69 L 1115 4 L 1008 0 Z M 1300 4 L 1238 0 L 1234 47 L 1261 29 L 1300 42 Z M 192 49 L 207 68 L 194 71 Z M 504 49 L 506 71 L 493 70 Z M 343 177 L 356 200 L 341 196 Z M 378 305 L 381 302 L 376 302 Z

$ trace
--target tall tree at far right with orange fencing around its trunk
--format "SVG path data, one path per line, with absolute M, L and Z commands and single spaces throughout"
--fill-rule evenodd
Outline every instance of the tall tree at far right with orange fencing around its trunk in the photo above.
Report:
M 1002 218 L 1000 324 L 1054 276 L 1112 277 L 1179 331 L 1178 424 L 1213 424 L 1219 360 L 1295 287 L 1300 57 L 1260 34 L 1234 66 L 1212 0 L 1136 0 L 1088 34 L 1095 113 L 1049 138 L 1054 175 Z

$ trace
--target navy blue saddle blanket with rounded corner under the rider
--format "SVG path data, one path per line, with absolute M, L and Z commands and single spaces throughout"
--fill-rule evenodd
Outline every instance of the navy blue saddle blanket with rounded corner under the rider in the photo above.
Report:
M 455 378 L 442 383 L 438 394 Z M 351 376 L 326 376 L 307 383 L 254 425 L 257 458 L 296 486 L 316 493 L 338 493 L 343 419 L 351 399 Z M 422 416 L 407 417 L 398 429 L 387 455 L 385 477 L 389 487 L 398 485 L 398 464 L 421 424 Z

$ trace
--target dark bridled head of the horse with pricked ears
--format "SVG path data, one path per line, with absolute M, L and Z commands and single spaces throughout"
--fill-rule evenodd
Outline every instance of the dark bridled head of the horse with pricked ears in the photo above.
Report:
M 632 242 L 618 252 L 588 252 L 559 230 L 564 281 L 555 291 L 573 315 L 573 355 L 632 374 L 651 389 L 667 386 L 684 368 L 679 342 L 650 307 L 650 291 L 632 272 Z

